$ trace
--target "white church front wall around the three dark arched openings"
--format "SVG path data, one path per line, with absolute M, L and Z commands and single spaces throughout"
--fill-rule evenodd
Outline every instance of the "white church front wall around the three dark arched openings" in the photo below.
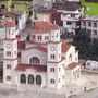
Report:
M 21 83 L 20 83 L 21 74 L 25 74 L 26 75 L 26 85 L 29 85 L 27 78 L 28 78 L 28 75 L 32 74 L 34 76 L 34 84 L 33 84 L 34 86 L 37 86 L 36 85 L 36 76 L 37 75 L 41 76 L 41 82 L 42 82 L 41 83 L 41 87 L 46 87 L 47 86 L 47 77 L 46 77 L 47 73 L 46 72 L 36 72 L 33 69 L 26 69 L 26 71 L 15 71 L 14 77 L 15 77 L 15 84 L 16 85 L 21 85 Z

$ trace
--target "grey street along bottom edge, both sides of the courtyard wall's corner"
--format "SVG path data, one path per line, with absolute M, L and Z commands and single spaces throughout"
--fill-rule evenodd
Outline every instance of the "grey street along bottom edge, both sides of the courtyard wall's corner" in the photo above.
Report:
M 50 93 L 17 93 L 15 90 L 2 89 L 0 90 L 0 98 L 65 98 L 65 96 Z M 98 98 L 98 88 L 69 98 Z

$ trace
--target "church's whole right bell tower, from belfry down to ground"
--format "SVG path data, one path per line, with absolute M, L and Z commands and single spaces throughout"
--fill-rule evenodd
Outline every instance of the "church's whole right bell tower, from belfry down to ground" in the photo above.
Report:
M 47 45 L 47 86 L 48 88 L 60 88 L 59 66 L 61 61 L 60 28 L 50 32 L 50 41 Z

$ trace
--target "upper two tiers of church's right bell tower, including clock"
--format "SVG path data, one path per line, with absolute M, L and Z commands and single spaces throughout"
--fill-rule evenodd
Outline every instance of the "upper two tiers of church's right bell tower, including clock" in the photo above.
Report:
M 50 41 L 48 44 L 48 62 L 61 61 L 61 41 L 60 30 L 50 33 Z

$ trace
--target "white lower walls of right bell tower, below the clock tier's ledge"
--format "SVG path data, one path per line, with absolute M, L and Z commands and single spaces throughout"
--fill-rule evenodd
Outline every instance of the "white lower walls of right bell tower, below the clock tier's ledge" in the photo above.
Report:
M 48 86 L 48 88 L 59 89 L 59 88 L 65 86 L 64 65 L 65 65 L 65 60 L 63 60 L 60 63 L 48 63 L 47 64 L 47 86 Z M 51 68 L 54 68 L 54 72 L 50 71 Z M 64 79 L 62 78 L 62 76 L 64 76 Z M 54 79 L 54 84 L 51 84 L 50 79 Z

